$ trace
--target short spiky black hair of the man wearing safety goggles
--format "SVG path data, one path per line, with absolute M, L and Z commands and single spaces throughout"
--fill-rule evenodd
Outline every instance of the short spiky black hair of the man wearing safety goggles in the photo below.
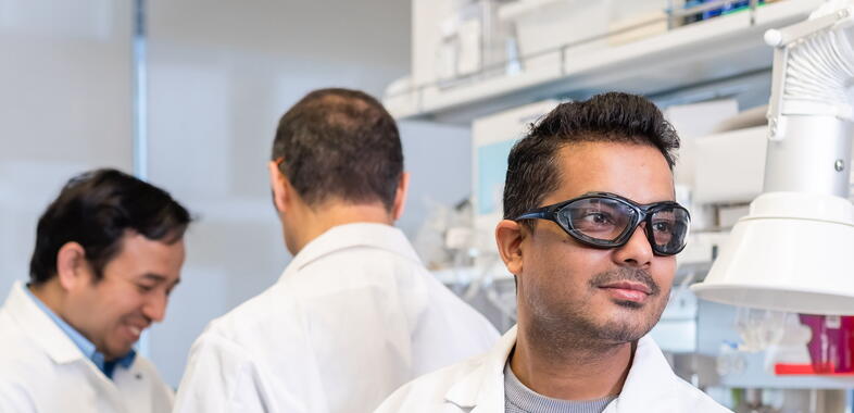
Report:
M 577 142 L 625 142 L 658 149 L 673 171 L 679 136 L 648 99 L 608 92 L 558 104 L 515 146 L 507 157 L 504 218 L 540 206 L 561 183 L 557 151 Z M 533 223 L 526 221 L 529 229 Z

